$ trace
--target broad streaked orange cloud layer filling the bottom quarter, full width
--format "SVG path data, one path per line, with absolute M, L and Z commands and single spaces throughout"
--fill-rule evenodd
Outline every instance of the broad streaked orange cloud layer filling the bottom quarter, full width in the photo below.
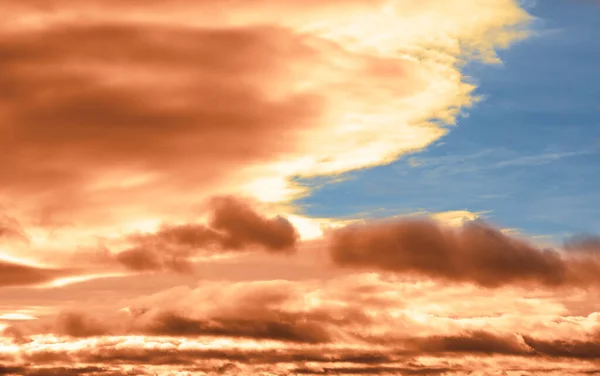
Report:
M 363 274 L 205 282 L 128 303 L 112 313 L 80 308 L 12 324 L 2 337 L 10 349 L 6 369 L 33 372 L 23 366 L 29 362 L 48 370 L 77 363 L 102 368 L 101 375 L 131 367 L 137 374 L 535 375 L 564 363 L 584 374 L 594 367 L 586 362 L 600 359 L 598 314 L 569 316 L 552 308 L 555 298 L 528 289 L 492 292 Z

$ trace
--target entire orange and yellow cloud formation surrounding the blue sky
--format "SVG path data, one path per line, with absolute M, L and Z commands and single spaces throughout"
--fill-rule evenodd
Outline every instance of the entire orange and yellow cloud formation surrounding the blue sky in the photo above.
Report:
M 527 36 L 516 0 L 0 0 L 0 14 L 0 241 L 63 265 L 0 261 L 0 374 L 593 367 L 575 361 L 598 358 L 579 288 L 597 288 L 594 242 L 543 250 L 455 211 L 437 218 L 454 227 L 366 223 L 309 244 L 275 205 L 306 193 L 294 177 L 447 134 L 477 101 L 463 64 Z M 200 218 L 213 195 L 230 196 Z M 186 274 L 231 255 L 218 281 Z M 290 280 L 268 280 L 284 263 Z

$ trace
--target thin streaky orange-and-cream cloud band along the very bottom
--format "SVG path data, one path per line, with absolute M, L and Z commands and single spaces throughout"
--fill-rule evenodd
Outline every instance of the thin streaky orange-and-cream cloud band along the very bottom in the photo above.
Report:
M 86 346 L 92 343 L 91 341 L 96 343 L 96 347 Z M 147 365 L 173 366 L 176 367 L 175 369 L 183 370 L 189 369 L 190 366 L 208 368 L 212 365 L 213 370 L 216 371 L 219 363 L 223 364 L 223 361 L 227 361 L 235 366 L 229 368 L 249 365 L 262 367 L 286 365 L 286 368 L 303 369 L 305 372 L 302 373 L 315 375 L 323 374 L 324 370 L 331 370 L 334 374 L 344 374 L 346 373 L 344 370 L 355 370 L 356 372 L 350 373 L 365 374 L 372 374 L 376 370 L 403 371 L 408 374 L 419 374 L 419 371 L 468 371 L 473 369 L 473 364 L 462 363 L 461 358 L 477 359 L 488 355 L 507 356 L 513 359 L 520 357 L 533 362 L 541 360 L 548 362 L 560 358 L 598 358 L 597 345 L 592 342 L 546 341 L 528 336 L 498 335 L 485 331 L 407 338 L 403 343 L 394 342 L 394 346 L 389 348 L 375 349 L 306 343 L 295 347 L 267 345 L 261 348 L 257 343 L 245 343 L 243 347 L 237 348 L 227 344 L 219 347 L 215 342 L 184 341 L 172 337 L 147 337 L 147 343 L 136 342 L 133 337 L 97 338 L 72 343 L 71 351 L 61 348 L 60 344 L 48 343 L 37 348 L 30 347 L 29 351 L 21 356 L 24 360 L 35 362 L 38 366 L 56 361 L 102 364 L 105 369 L 124 365 Z M 414 361 L 418 359 L 416 357 L 431 356 L 446 357 L 444 359 L 450 360 L 450 364 L 442 361 L 441 364 L 446 363 L 446 367 L 442 367 L 441 364 L 436 367 Z M 273 368 L 270 369 L 275 371 Z

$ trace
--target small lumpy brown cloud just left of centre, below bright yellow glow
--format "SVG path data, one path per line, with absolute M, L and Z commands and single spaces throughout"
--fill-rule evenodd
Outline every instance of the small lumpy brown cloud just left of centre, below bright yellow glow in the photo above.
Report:
M 192 270 L 191 258 L 205 253 L 249 251 L 260 248 L 271 253 L 289 253 L 298 232 L 281 216 L 266 218 L 251 205 L 233 196 L 215 197 L 210 203 L 207 225 L 163 226 L 152 234 L 131 236 L 132 248 L 118 253 L 117 262 L 129 269 Z

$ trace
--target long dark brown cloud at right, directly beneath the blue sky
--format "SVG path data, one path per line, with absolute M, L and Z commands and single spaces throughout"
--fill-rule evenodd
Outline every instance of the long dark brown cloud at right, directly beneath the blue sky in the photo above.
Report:
M 486 287 L 536 282 L 546 286 L 598 282 L 597 260 L 568 258 L 479 221 L 459 229 L 427 220 L 350 225 L 330 233 L 335 264 L 472 282 Z

